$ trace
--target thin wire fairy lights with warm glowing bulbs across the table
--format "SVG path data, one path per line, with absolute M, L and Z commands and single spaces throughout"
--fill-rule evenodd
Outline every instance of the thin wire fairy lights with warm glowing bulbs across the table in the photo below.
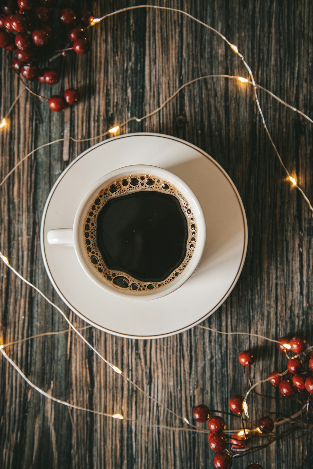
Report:
M 229 76 L 229 75 L 206 75 L 206 76 L 201 76 L 201 77 L 198 77 L 198 78 L 195 78 L 187 83 L 184 83 L 180 88 L 178 88 L 174 94 L 172 94 L 168 99 L 166 99 L 161 106 L 159 106 L 157 109 L 155 109 L 154 111 L 146 114 L 145 116 L 141 117 L 141 118 L 138 118 L 138 117 L 131 117 L 129 119 L 127 119 L 126 121 L 122 122 L 121 124 L 119 125 L 116 125 L 115 127 L 107 130 L 106 132 L 98 135 L 98 136 L 95 136 L 95 137 L 90 137 L 90 138 L 84 138 L 84 139 L 76 139 L 72 136 L 69 136 L 69 137 L 66 137 L 66 138 L 60 138 L 60 139 L 57 139 L 57 140 L 54 140 L 53 142 L 49 142 L 47 144 L 44 144 L 44 145 L 41 145 L 39 146 L 38 148 L 36 148 L 35 150 L 32 150 L 30 153 L 28 153 L 27 155 L 25 155 L 23 157 L 23 159 L 21 159 L 17 165 L 15 165 L 11 171 L 4 177 L 4 179 L 0 182 L 0 186 L 2 186 L 2 184 L 8 179 L 8 177 L 10 176 L 10 174 L 12 174 L 18 166 L 20 166 L 23 161 L 25 161 L 27 158 L 29 158 L 33 153 L 35 153 L 36 151 L 38 151 L 39 149 L 41 148 L 45 148 L 46 146 L 49 146 L 49 145 L 52 145 L 52 144 L 55 144 L 57 142 L 64 142 L 66 140 L 72 140 L 73 142 L 87 142 L 87 141 L 91 141 L 91 140 L 95 140 L 95 139 L 98 139 L 100 137 L 104 137 L 104 136 L 107 136 L 109 134 L 115 134 L 119 129 L 122 129 L 124 128 L 129 122 L 131 121 L 137 121 L 137 122 L 141 122 L 143 121 L 144 119 L 147 119 L 149 118 L 150 116 L 154 115 L 155 113 L 158 113 L 160 112 L 160 110 L 166 106 L 166 104 L 171 100 L 173 99 L 180 91 L 182 91 L 186 86 L 192 84 L 192 83 L 195 83 L 199 80 L 203 80 L 203 79 L 207 79 L 207 78 L 228 78 L 228 79 L 236 79 L 237 81 L 241 82 L 241 83 L 245 83 L 245 84 L 249 84 L 249 85 L 252 85 L 253 86 L 253 90 L 254 90 L 254 98 L 256 100 L 256 104 L 257 104 L 257 107 L 258 107 L 258 111 L 260 113 L 260 116 L 261 116 L 261 120 L 262 120 L 262 124 L 266 130 L 266 133 L 267 133 L 267 136 L 270 140 L 270 143 L 271 145 L 273 146 L 273 149 L 275 151 L 275 154 L 282 166 L 282 168 L 284 169 L 285 171 L 285 174 L 286 174 L 286 181 L 290 182 L 292 187 L 296 187 L 301 195 L 304 197 L 306 203 L 308 204 L 311 212 L 313 212 L 313 206 L 312 204 L 310 203 L 310 200 L 308 199 L 308 197 L 305 195 L 304 191 L 298 186 L 298 183 L 296 181 L 296 179 L 290 175 L 288 169 L 286 168 L 286 166 L 284 165 L 283 161 L 282 161 L 282 158 L 275 146 L 275 143 L 270 135 L 270 132 L 267 128 L 267 124 L 266 124 L 266 121 L 265 121 L 265 118 L 264 118 L 264 114 L 263 114 L 263 111 L 262 111 L 262 108 L 260 106 L 260 101 L 259 101 L 259 96 L 258 96 L 258 93 L 257 93 L 257 90 L 260 89 L 262 91 L 265 91 L 267 92 L 272 98 L 275 98 L 278 102 L 280 102 L 282 105 L 288 107 L 289 109 L 291 109 L 292 111 L 296 112 L 296 113 L 299 113 L 301 116 L 303 116 L 306 120 L 308 120 L 310 123 L 313 123 L 313 120 L 307 116 L 305 113 L 303 113 L 302 111 L 298 110 L 297 108 L 295 108 L 294 106 L 291 106 L 290 104 L 286 103 L 285 101 L 283 101 L 281 98 L 278 98 L 274 93 L 272 93 L 271 91 L 268 91 L 267 89 L 265 89 L 264 87 L 260 86 L 259 84 L 255 83 L 255 80 L 254 80 L 254 76 L 252 74 L 252 70 L 251 68 L 249 67 L 249 65 L 247 64 L 247 62 L 244 60 L 244 56 L 238 51 L 238 48 L 236 45 L 232 44 L 231 42 L 229 42 L 229 40 L 223 35 L 221 34 L 220 31 L 214 29 L 213 27 L 209 26 L 208 24 L 198 20 L 198 18 L 195 18 L 194 16 L 190 15 L 189 13 L 183 11 L 183 10 L 180 10 L 180 9 L 176 9 L 176 8 L 168 8 L 168 7 L 160 7 L 160 6 L 153 6 L 153 5 L 139 5 L 139 6 L 134 6 L 134 7 L 127 7 L 127 8 L 122 8 L 120 10 L 116 10 L 115 12 L 112 12 L 112 13 L 109 13 L 107 15 L 104 15 L 100 18 L 94 18 L 92 23 L 91 23 L 91 26 L 94 26 L 95 24 L 98 24 L 100 23 L 101 21 L 103 21 L 104 19 L 110 17 L 110 16 L 113 16 L 113 15 L 117 15 L 119 13 L 122 13 L 122 12 L 126 12 L 126 11 L 129 11 L 129 10 L 135 10 L 135 9 L 139 9 L 139 8 L 154 8 L 154 9 L 158 9 L 158 10 L 167 10 L 167 11 L 172 11 L 172 12 L 177 12 L 177 13 L 180 13 L 182 15 L 185 15 L 187 16 L 188 18 L 190 18 L 192 21 L 195 21 L 196 23 L 199 23 L 200 25 L 206 27 L 207 29 L 211 30 L 212 32 L 214 32 L 214 34 L 217 34 L 223 41 L 226 42 L 226 44 L 231 48 L 231 50 L 236 53 L 238 55 L 238 57 L 241 59 L 241 61 L 243 62 L 244 64 L 244 67 L 246 68 L 249 76 L 250 76 L 250 80 L 248 78 L 245 78 L 245 77 L 242 77 L 242 76 Z M 18 99 L 20 98 L 20 96 L 22 95 L 22 93 L 25 91 L 25 88 L 20 92 L 20 94 L 15 98 L 15 101 L 13 102 L 12 106 L 10 107 L 10 109 L 8 110 L 8 113 L 2 118 L 2 120 L 0 121 L 0 129 L 5 129 L 7 126 L 8 126 L 8 116 L 10 115 L 10 113 L 12 112 L 15 104 L 17 103 Z M 53 308 L 55 308 L 62 316 L 63 318 L 68 322 L 69 326 L 72 328 L 72 330 L 80 337 L 81 340 L 83 340 L 86 345 L 88 347 L 90 347 L 92 349 L 92 351 L 99 356 L 99 358 L 104 361 L 113 371 L 115 371 L 117 374 L 121 375 L 123 378 L 125 378 L 131 385 L 135 386 L 136 389 L 140 392 L 140 393 L 143 393 L 146 397 L 148 397 L 149 399 L 151 399 L 152 401 L 156 402 L 158 405 L 160 405 L 161 407 L 163 407 L 165 410 L 167 410 L 168 412 L 170 412 L 172 415 L 176 416 L 177 418 L 181 419 L 183 422 L 185 422 L 186 424 L 188 424 L 190 427 L 193 427 L 193 428 L 185 428 L 185 427 L 182 427 L 182 428 L 176 428 L 176 427 L 168 427 L 168 426 L 164 426 L 164 425 L 145 425 L 145 424 L 141 424 L 142 426 L 148 426 L 150 428 L 152 427 L 156 427 L 156 428 L 165 428 L 165 429 L 171 429 L 171 430 L 184 430 L 184 431 L 199 431 L 199 432 L 206 432 L 207 431 L 203 431 L 199 428 L 197 428 L 195 425 L 192 425 L 190 424 L 189 420 L 186 418 L 186 417 L 183 417 L 183 416 L 179 416 L 178 414 L 176 414 L 174 411 L 172 411 L 171 409 L 169 409 L 168 407 L 166 407 L 164 404 L 162 404 L 160 401 L 156 400 L 155 398 L 153 398 L 152 396 L 150 396 L 148 393 L 145 393 L 145 391 L 140 388 L 139 386 L 137 386 L 137 384 L 135 382 L 133 382 L 132 380 L 130 380 L 130 378 L 128 378 L 123 372 L 122 370 L 120 370 L 117 366 L 115 366 L 113 363 L 110 363 L 109 361 L 107 361 L 85 338 L 84 336 L 79 332 L 79 330 L 83 330 L 84 328 L 76 328 L 70 321 L 69 319 L 67 318 L 67 316 L 65 315 L 65 313 L 58 307 L 56 306 L 53 302 L 51 302 L 47 297 L 46 295 L 44 295 L 38 287 L 34 286 L 33 284 L 31 284 L 31 282 L 29 282 L 28 280 L 26 280 L 19 272 L 17 272 L 15 270 L 14 267 L 12 267 L 10 264 L 9 264 L 9 261 L 8 261 L 8 258 L 6 256 L 4 256 L 1 252 L 0 252 L 0 258 L 1 260 L 4 262 L 5 265 L 7 265 L 7 267 L 17 276 L 19 277 L 24 283 L 26 283 L 27 285 L 29 285 L 30 287 L 34 288 L 39 295 L 43 296 L 43 298 L 50 304 L 53 306 Z M 87 327 L 90 327 L 90 326 L 86 326 L 85 328 Z M 198 327 L 201 327 L 203 329 L 208 329 L 208 330 L 211 330 L 212 332 L 215 332 L 215 333 L 222 333 L 222 334 L 246 334 L 246 335 L 250 335 L 250 336 L 255 336 L 255 337 L 258 337 L 258 338 L 262 338 L 264 340 L 269 340 L 269 341 L 272 341 L 272 342 L 278 342 L 277 340 L 273 340 L 273 339 L 269 339 L 267 337 L 264 337 L 264 336 L 260 336 L 259 334 L 252 334 L 252 333 L 240 333 L 240 332 L 230 332 L 230 333 L 224 333 L 224 332 L 221 332 L 221 331 L 216 331 L 214 329 L 210 329 L 208 327 L 205 327 L 205 326 L 198 326 Z M 66 331 L 60 331 L 60 332 L 56 332 L 56 333 L 62 333 L 62 332 L 68 332 L 69 330 L 67 329 Z M 55 333 L 55 334 L 56 334 Z M 61 401 L 57 398 L 54 398 L 53 396 L 51 396 L 50 394 L 46 393 L 45 391 L 43 391 L 42 389 L 40 389 L 38 386 L 34 385 L 24 374 L 23 372 L 18 368 L 18 366 L 15 364 L 15 362 L 6 354 L 6 352 L 4 351 L 4 348 L 8 345 L 13 345 L 13 344 L 16 344 L 16 343 L 20 343 L 21 341 L 24 341 L 24 340 L 29 340 L 31 338 L 35 338 L 35 337 L 40 337 L 40 336 L 44 336 L 44 335 L 49 335 L 49 334 L 53 334 L 53 333 L 43 333 L 43 334 L 37 334 L 36 336 L 32 336 L 30 338 L 26 338 L 26 339 L 21 339 L 21 340 L 16 340 L 14 342 L 9 342 L 8 344 L 3 344 L 3 345 L 0 345 L 0 352 L 2 354 L 2 356 L 8 361 L 8 363 L 10 363 L 13 368 L 15 369 L 15 371 L 17 371 L 20 376 L 32 387 L 34 388 L 38 393 L 41 393 L 43 396 L 45 396 L 46 398 L 48 399 L 51 399 L 57 403 L 61 403 L 62 405 L 66 405 L 70 408 L 76 408 L 76 409 L 79 409 L 79 410 L 83 410 L 83 411 L 87 411 L 87 412 L 93 412 L 95 414 L 99 414 L 99 415 L 102 415 L 102 416 L 108 416 L 108 417 L 111 417 L 111 418 L 115 418 L 115 419 L 126 419 L 126 420 L 131 420 L 134 422 L 134 420 L 132 419 L 128 419 L 126 417 L 123 417 L 122 414 L 119 414 L 119 413 L 115 413 L 115 414 L 107 414 L 107 413 L 103 413 L 103 412 L 99 412 L 99 411 L 94 411 L 92 409 L 88 409 L 88 408 L 83 408 L 83 407 L 79 407 L 79 406 L 76 406 L 74 404 L 70 404 L 69 402 L 66 402 L 66 401 Z M 283 373 L 280 374 L 280 376 L 283 376 L 287 371 L 284 371 Z M 268 381 L 269 378 L 267 379 L 264 379 L 264 380 L 260 380 L 259 382 L 255 383 L 253 386 L 251 386 L 251 388 L 248 390 L 248 392 L 246 393 L 245 395 L 245 398 L 244 398 L 244 412 L 245 412 L 245 415 L 248 417 L 248 406 L 247 406 L 247 402 L 246 402 L 246 399 L 249 395 L 249 393 L 252 391 L 252 389 L 257 386 L 258 384 L 261 384 L 261 383 L 264 383 L 266 381 Z M 305 409 L 305 406 L 303 406 L 296 414 L 294 414 L 293 416 L 290 416 L 288 418 L 282 418 L 280 420 L 277 420 L 275 422 L 275 425 L 280 425 L 280 424 L 283 424 L 287 421 L 290 421 L 290 419 L 294 419 L 296 416 L 300 415 Z M 137 421 L 136 421 L 137 422 Z M 258 428 L 258 427 L 257 427 Z M 257 428 L 255 429 L 244 429 L 244 432 L 247 431 L 247 432 L 257 432 L 258 433 L 258 430 Z M 233 431 L 229 431 L 229 432 L 238 432 L 238 430 L 233 430 Z

